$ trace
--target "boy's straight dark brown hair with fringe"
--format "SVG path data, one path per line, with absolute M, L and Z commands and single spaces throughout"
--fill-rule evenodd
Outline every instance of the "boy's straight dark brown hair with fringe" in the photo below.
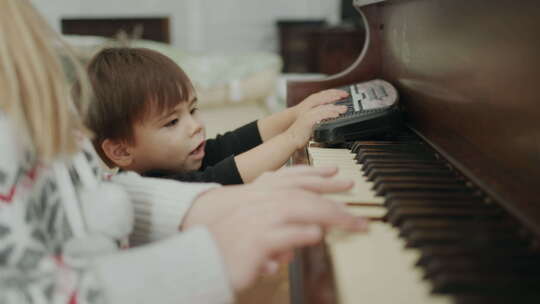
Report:
M 167 56 L 144 48 L 107 48 L 88 64 L 94 98 L 86 116 L 102 159 L 105 139 L 134 142 L 133 126 L 150 112 L 161 114 L 187 101 L 193 86 Z

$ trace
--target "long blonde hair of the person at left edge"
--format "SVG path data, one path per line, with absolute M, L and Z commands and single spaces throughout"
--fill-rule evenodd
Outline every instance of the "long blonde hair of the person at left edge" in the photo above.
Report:
M 70 96 L 65 65 L 81 86 L 78 104 Z M 18 123 L 38 159 L 78 150 L 75 133 L 87 133 L 80 119 L 89 96 L 85 77 L 69 47 L 28 0 L 0 0 L 0 109 Z

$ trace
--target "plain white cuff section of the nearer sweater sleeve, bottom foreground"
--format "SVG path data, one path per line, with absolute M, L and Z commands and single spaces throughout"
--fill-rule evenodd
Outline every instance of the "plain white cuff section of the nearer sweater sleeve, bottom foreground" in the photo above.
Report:
M 234 298 L 222 257 L 204 227 L 104 256 L 94 266 L 108 303 L 211 304 Z

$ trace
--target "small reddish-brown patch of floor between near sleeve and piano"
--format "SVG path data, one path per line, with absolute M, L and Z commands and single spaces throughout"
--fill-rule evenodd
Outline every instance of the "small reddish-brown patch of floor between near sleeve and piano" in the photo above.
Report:
M 273 276 L 262 277 L 237 298 L 236 304 L 289 304 L 289 273 L 284 265 Z

